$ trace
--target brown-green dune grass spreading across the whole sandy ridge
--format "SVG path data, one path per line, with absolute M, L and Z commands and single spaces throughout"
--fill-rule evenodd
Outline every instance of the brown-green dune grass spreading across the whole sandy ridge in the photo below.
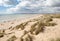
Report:
M 18 38 L 20 39 L 19 41 L 33 41 L 35 36 L 40 34 L 41 32 L 44 33 L 45 27 L 49 27 L 49 26 L 56 26 L 57 23 L 53 22 L 53 18 L 60 18 L 60 14 L 44 14 L 42 16 L 42 18 L 40 18 L 40 16 L 36 19 L 32 19 L 32 20 L 28 20 L 27 22 L 23 22 L 20 23 L 19 25 L 15 26 L 15 27 L 10 27 L 9 30 L 10 32 L 14 32 L 15 31 L 24 31 L 23 35 L 21 37 L 16 37 L 15 35 L 11 36 L 9 38 L 9 33 L 5 33 L 6 30 L 0 30 L 0 38 L 4 37 L 4 35 L 8 35 L 6 41 L 15 41 Z M 32 24 L 31 22 L 35 22 L 34 24 Z M 29 23 L 31 23 L 31 25 L 29 25 Z M 27 31 L 27 29 L 25 30 L 26 27 L 28 26 L 30 27 L 30 30 Z M 19 30 L 20 29 L 20 30 Z M 13 33 L 11 33 L 13 34 Z M 35 35 L 35 36 L 34 36 Z M 51 39 L 51 41 L 60 41 L 60 39 Z

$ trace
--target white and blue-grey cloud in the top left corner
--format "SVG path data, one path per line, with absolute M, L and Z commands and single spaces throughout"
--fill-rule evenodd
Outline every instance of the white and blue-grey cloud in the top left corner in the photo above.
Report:
M 0 0 L 0 6 L 9 7 L 17 4 L 17 0 Z

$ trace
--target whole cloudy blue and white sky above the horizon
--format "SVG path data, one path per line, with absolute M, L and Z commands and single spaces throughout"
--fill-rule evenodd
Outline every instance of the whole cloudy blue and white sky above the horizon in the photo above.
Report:
M 60 13 L 60 0 L 0 0 L 0 14 Z

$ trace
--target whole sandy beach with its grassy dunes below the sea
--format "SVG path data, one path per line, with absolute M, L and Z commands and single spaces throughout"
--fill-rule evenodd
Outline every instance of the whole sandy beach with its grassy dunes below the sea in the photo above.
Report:
M 60 41 L 60 14 L 37 14 L 1 23 L 0 41 Z

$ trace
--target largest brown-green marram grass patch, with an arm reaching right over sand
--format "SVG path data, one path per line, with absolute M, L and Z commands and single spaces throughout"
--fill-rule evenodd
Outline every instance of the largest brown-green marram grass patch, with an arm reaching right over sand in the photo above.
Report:
M 38 35 L 40 32 L 44 31 L 45 26 L 55 26 L 56 23 L 50 23 L 51 21 L 53 21 L 53 19 L 50 17 L 39 20 L 37 23 L 35 23 L 31 26 L 31 30 L 30 30 L 31 34 Z M 33 33 L 33 32 L 35 32 L 35 33 Z

